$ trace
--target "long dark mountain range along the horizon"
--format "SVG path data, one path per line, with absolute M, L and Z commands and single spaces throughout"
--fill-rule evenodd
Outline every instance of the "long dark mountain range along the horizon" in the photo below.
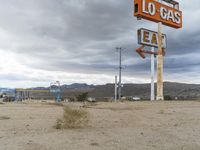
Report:
M 49 87 L 36 87 L 31 89 L 48 90 Z M 5 92 L 6 90 L 13 91 L 13 89 L 0 88 L 0 92 Z M 88 92 L 90 97 L 95 98 L 114 97 L 114 84 L 88 85 L 74 83 L 70 85 L 62 85 L 61 90 L 63 98 L 75 97 L 83 92 Z M 124 84 L 122 88 L 122 95 L 126 97 L 137 96 L 142 99 L 149 99 L 150 84 Z M 200 84 L 165 82 L 164 95 L 170 96 L 173 99 L 200 99 Z M 34 93 L 32 96 L 36 98 L 53 98 L 52 94 L 46 93 Z

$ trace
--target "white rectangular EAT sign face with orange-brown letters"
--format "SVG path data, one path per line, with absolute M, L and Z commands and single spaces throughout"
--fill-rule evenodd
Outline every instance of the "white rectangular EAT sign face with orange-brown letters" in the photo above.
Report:
M 138 30 L 138 44 L 151 47 L 158 47 L 158 33 L 148 29 L 141 28 Z M 162 48 L 167 47 L 167 36 L 162 34 Z

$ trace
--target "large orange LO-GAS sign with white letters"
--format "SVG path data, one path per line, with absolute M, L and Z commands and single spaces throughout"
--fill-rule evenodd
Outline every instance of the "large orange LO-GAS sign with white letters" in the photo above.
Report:
M 134 0 L 134 16 L 173 27 L 182 28 L 182 12 L 156 0 Z

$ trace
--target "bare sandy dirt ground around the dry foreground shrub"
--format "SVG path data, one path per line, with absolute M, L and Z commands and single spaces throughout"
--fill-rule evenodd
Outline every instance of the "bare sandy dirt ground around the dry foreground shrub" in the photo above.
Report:
M 200 102 L 98 103 L 89 125 L 54 129 L 62 106 L 0 104 L 0 150 L 200 150 Z

